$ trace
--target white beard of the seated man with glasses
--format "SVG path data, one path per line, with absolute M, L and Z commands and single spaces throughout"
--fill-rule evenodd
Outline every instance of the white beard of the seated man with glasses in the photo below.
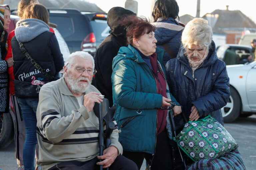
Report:
M 84 77 L 80 77 L 78 79 L 74 79 L 73 75 L 66 73 L 66 75 L 64 75 L 65 80 L 67 81 L 67 83 L 69 84 L 71 90 L 75 93 L 85 93 L 85 91 L 87 90 L 87 88 L 89 87 L 89 85 L 92 83 L 91 81 L 89 81 L 88 78 L 84 78 Z M 80 86 L 78 85 L 78 82 L 80 80 L 87 80 L 87 83 L 82 83 Z

